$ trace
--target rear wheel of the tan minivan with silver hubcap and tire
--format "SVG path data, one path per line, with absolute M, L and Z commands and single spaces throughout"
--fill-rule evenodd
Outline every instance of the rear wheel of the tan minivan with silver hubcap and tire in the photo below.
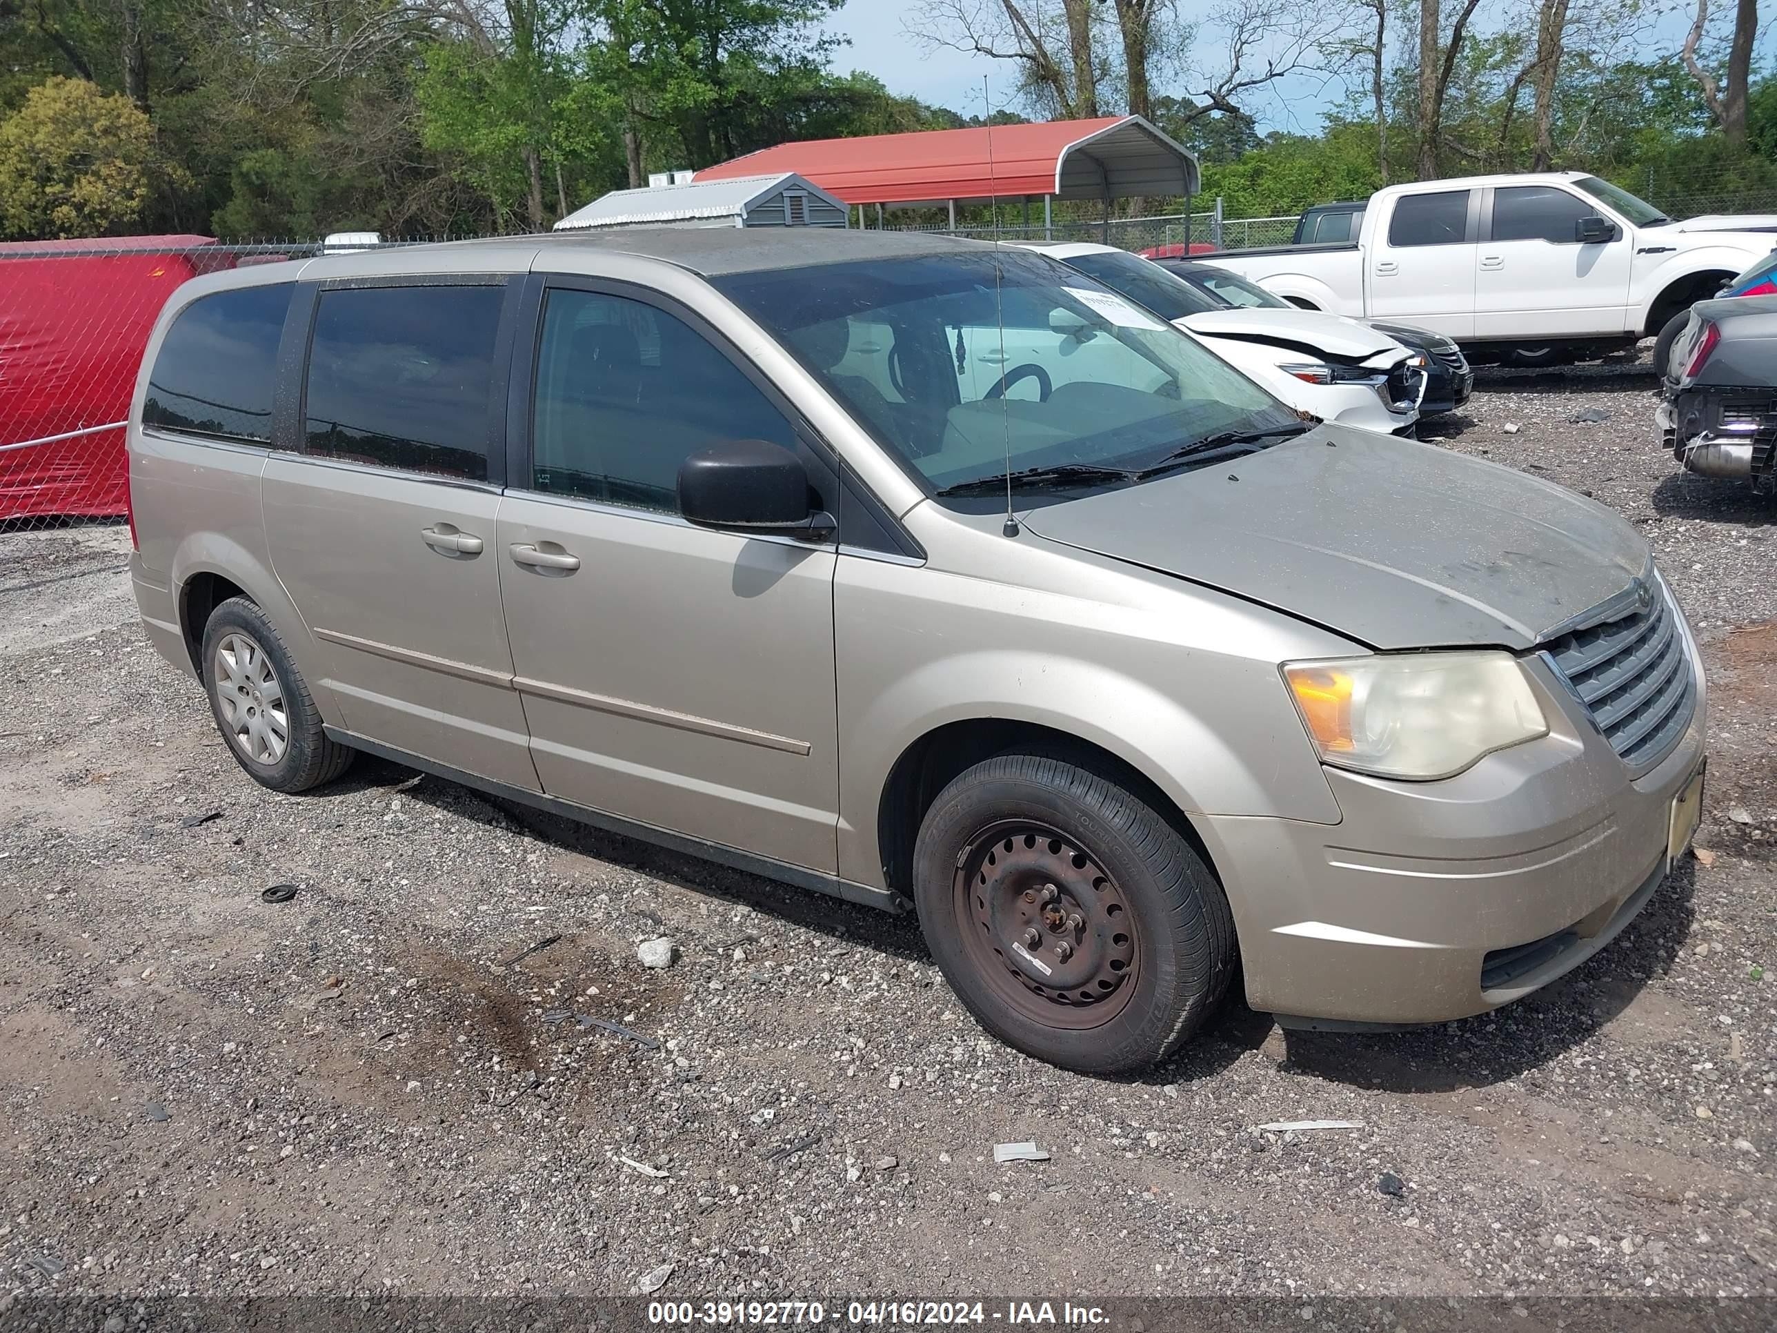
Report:
M 201 661 L 217 730 L 261 787 L 307 791 L 352 766 L 357 752 L 329 739 L 290 649 L 251 601 L 229 597 L 210 613 Z

